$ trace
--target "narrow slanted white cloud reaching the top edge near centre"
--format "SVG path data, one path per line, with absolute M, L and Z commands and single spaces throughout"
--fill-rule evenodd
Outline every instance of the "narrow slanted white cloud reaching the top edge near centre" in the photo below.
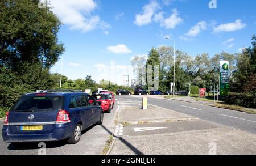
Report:
M 156 1 L 151 1 L 143 7 L 143 12 L 141 14 L 136 14 L 136 19 L 134 24 L 138 26 L 147 25 L 152 22 L 152 16 L 160 8 L 159 4 Z

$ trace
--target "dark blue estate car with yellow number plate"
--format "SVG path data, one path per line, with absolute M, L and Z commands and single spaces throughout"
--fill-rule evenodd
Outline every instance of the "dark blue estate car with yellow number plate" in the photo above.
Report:
M 2 136 L 11 143 L 67 139 L 75 144 L 80 141 L 81 131 L 102 124 L 103 116 L 98 102 L 86 93 L 28 93 L 6 113 Z

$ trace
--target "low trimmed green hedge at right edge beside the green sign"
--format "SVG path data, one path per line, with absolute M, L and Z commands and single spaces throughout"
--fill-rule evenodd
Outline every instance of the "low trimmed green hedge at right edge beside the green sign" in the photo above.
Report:
M 227 104 L 239 105 L 246 108 L 256 108 L 256 94 L 252 93 L 229 93 Z

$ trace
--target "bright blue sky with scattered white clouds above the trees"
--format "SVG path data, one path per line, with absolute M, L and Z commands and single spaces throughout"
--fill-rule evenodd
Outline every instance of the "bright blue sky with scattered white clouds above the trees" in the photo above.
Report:
M 212 3 L 213 2 L 213 3 Z M 152 47 L 174 46 L 191 56 L 241 52 L 256 33 L 256 1 L 51 0 L 63 22 L 63 74 L 123 84 L 134 79 L 131 58 Z M 61 73 L 61 57 L 51 69 Z

